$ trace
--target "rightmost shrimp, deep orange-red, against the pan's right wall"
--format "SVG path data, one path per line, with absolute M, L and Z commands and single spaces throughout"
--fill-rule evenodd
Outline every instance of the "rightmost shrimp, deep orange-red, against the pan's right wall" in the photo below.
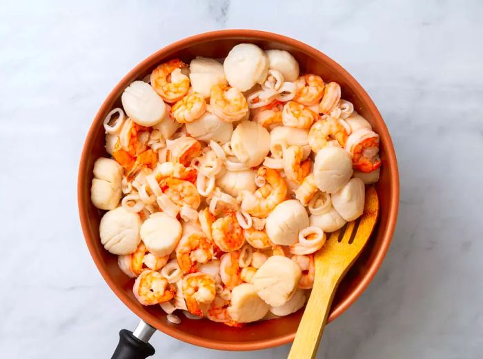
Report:
M 362 172 L 373 172 L 381 166 L 379 135 L 367 129 L 359 130 L 349 136 L 346 151 L 351 154 L 353 167 Z

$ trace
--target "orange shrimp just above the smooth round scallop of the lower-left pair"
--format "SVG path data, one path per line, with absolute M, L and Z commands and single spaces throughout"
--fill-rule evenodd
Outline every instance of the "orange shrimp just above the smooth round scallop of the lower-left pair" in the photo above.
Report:
M 201 198 L 193 183 L 168 177 L 161 180 L 159 185 L 170 201 L 179 205 L 179 207 L 186 206 L 197 209 L 201 203 Z

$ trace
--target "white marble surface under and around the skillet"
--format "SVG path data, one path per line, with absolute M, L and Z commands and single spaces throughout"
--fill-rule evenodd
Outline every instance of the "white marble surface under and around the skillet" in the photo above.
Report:
M 309 43 L 362 83 L 397 150 L 401 205 L 371 286 L 317 358 L 481 358 L 482 1 L 0 1 L 0 358 L 109 358 L 137 318 L 77 217 L 90 121 L 164 45 L 220 28 Z M 158 358 L 284 358 L 152 338 Z

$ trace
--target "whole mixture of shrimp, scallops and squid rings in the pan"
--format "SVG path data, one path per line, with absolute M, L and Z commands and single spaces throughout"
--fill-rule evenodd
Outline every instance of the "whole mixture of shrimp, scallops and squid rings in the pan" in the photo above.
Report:
M 170 59 L 103 121 L 92 203 L 141 305 L 241 326 L 304 306 L 326 234 L 362 215 L 380 137 L 284 50 Z

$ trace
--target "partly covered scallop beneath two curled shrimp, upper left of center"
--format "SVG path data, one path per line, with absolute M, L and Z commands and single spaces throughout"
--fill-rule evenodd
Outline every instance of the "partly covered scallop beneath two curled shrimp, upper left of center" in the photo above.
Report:
M 216 114 L 205 112 L 199 119 L 186 123 L 186 131 L 199 141 L 227 143 L 233 134 L 233 123 L 220 119 Z

